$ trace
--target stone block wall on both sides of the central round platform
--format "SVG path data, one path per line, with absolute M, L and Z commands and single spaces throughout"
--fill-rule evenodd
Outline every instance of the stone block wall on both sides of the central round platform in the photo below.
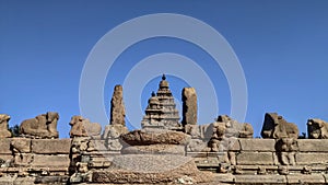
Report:
M 281 151 L 279 139 L 235 139 L 229 150 L 191 152 L 198 169 L 227 184 L 327 184 L 328 140 L 298 139 Z M 106 170 L 119 150 L 106 140 L 4 138 L 0 140 L 0 184 L 92 184 L 94 170 Z M 283 158 L 292 164 L 284 164 Z

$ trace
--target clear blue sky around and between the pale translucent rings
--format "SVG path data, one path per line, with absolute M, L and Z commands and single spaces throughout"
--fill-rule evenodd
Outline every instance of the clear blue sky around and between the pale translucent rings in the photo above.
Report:
M 59 112 L 60 137 L 69 137 L 71 116 L 81 114 L 79 85 L 82 69 L 95 44 L 107 32 L 131 19 L 176 13 L 212 26 L 233 48 L 247 83 L 245 122 L 255 128 L 255 137 L 260 136 L 267 112 L 278 112 L 305 132 L 308 118 L 328 120 L 327 10 L 326 0 L 0 0 L 0 113 L 12 117 L 12 126 L 47 111 Z M 129 33 L 133 35 L 138 30 L 151 28 L 137 27 Z M 189 32 L 192 34 L 195 31 Z M 126 38 L 118 37 L 116 42 L 120 39 L 124 42 Z M 112 51 L 108 48 L 108 53 Z M 213 115 L 210 112 L 215 107 L 200 106 L 200 124 L 211 123 L 220 114 L 231 114 L 230 85 L 215 60 L 192 43 L 156 37 L 130 46 L 115 60 L 105 80 L 104 96 L 94 93 L 94 96 L 103 99 L 107 115 L 115 84 L 122 84 L 133 67 L 144 58 L 167 53 L 195 60 L 213 81 L 218 100 L 207 100 L 210 97 L 207 95 L 199 96 L 199 100 L 218 101 L 219 109 Z M 175 68 L 169 61 L 167 66 Z M 141 99 L 132 104 L 140 103 L 141 109 L 144 109 L 151 91 L 157 90 L 163 72 L 166 71 L 159 72 L 156 78 L 148 79 L 144 84 L 136 81 L 142 93 L 138 94 Z M 194 74 L 195 78 L 198 76 Z M 180 107 L 180 90 L 190 81 L 175 74 L 167 76 L 167 80 Z M 125 93 L 134 93 L 129 85 L 124 88 Z M 201 94 L 207 90 L 197 91 Z M 126 102 L 128 104 L 131 103 Z M 140 109 L 127 108 L 128 117 L 141 120 L 142 114 Z M 97 122 L 95 119 L 91 118 Z M 128 122 L 130 129 L 139 124 Z

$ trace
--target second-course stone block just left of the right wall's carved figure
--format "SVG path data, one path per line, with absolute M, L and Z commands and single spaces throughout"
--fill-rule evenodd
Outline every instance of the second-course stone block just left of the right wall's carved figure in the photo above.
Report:
M 250 164 L 250 165 L 270 165 L 273 164 L 273 153 L 271 152 L 242 152 L 238 153 L 237 164 Z

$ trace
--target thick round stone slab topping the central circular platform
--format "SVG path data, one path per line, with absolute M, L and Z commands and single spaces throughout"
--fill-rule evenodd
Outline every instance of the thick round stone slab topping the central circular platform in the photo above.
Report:
M 187 144 L 190 140 L 184 132 L 163 129 L 133 130 L 120 138 L 130 146 Z

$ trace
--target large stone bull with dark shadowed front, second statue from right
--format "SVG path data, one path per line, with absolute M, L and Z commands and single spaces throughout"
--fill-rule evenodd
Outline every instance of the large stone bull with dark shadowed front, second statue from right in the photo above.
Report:
M 293 123 L 288 123 L 277 113 L 267 113 L 261 130 L 262 138 L 298 138 L 298 128 Z

